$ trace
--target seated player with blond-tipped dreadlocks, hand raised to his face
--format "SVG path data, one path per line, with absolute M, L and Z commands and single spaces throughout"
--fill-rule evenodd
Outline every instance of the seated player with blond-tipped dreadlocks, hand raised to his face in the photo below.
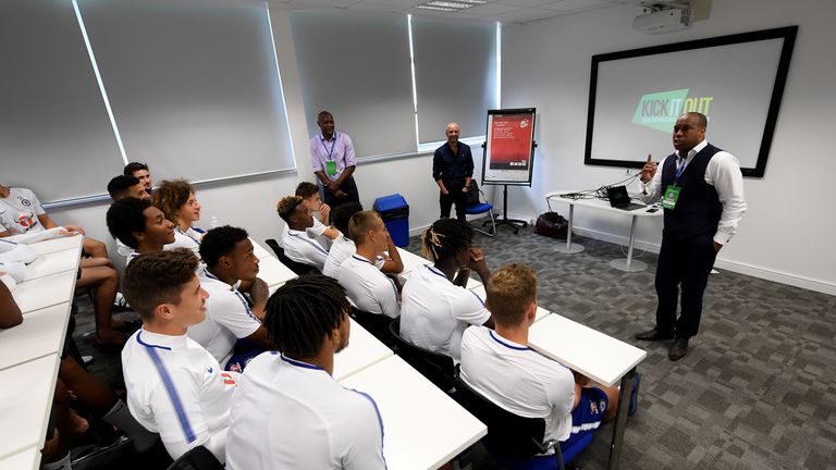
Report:
M 467 289 L 470 270 L 487 284 L 491 272 L 474 230 L 457 219 L 440 219 L 421 235 L 421 252 L 433 260 L 410 273 L 401 305 L 401 336 L 458 362 L 462 333 L 470 324 L 493 327 L 482 299 Z

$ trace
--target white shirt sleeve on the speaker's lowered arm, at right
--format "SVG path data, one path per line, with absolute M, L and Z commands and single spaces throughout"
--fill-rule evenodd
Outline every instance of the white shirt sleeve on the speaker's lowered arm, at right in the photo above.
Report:
M 725 245 L 735 235 L 737 224 L 746 212 L 743 174 L 737 159 L 725 151 L 714 154 L 705 168 L 705 183 L 714 186 L 723 205 L 714 242 Z

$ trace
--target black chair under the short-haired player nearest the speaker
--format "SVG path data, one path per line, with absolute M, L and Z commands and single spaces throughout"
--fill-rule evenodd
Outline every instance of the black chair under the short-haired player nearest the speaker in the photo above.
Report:
M 524 418 L 495 405 L 458 376 L 458 366 L 455 375 L 456 393 L 453 397 L 488 426 L 482 444 L 493 458 L 513 470 L 565 470 L 557 441 L 543 442 L 543 418 Z M 552 448 L 554 455 L 539 456 Z

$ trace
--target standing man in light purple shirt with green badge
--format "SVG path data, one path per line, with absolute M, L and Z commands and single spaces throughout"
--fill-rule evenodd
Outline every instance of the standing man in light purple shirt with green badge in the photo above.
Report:
M 334 131 L 334 116 L 322 111 L 317 116 L 321 134 L 310 138 L 310 160 L 319 184 L 324 188 L 325 203 L 332 209 L 343 202 L 359 202 L 354 183 L 354 143 L 348 134 Z

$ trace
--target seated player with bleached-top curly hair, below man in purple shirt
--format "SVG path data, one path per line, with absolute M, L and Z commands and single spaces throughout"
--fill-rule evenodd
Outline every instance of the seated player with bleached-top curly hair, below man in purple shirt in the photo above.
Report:
M 310 264 L 322 271 L 328 259 L 328 250 L 306 232 L 314 226 L 312 211 L 298 196 L 287 196 L 279 201 L 279 217 L 287 224 L 287 233 L 284 235 L 284 255 L 293 261 Z M 336 231 L 329 238 L 336 238 Z M 329 232 L 327 231 L 325 234 Z

